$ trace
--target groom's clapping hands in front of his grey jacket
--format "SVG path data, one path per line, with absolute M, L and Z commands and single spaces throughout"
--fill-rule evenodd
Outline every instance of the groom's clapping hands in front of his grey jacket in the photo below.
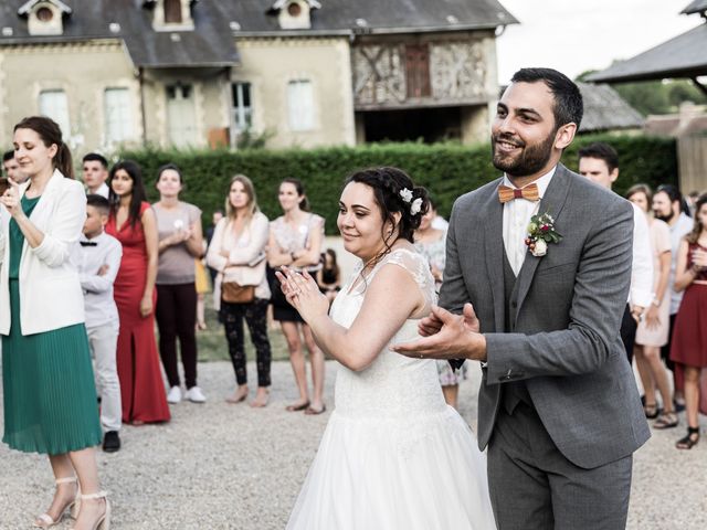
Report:
M 435 306 L 428 320 L 432 327 L 436 321 L 441 322 L 435 333 L 412 342 L 394 344 L 390 349 L 420 359 L 486 360 L 486 338 L 478 332 L 478 318 L 471 304 L 464 305 L 463 315 L 454 315 Z

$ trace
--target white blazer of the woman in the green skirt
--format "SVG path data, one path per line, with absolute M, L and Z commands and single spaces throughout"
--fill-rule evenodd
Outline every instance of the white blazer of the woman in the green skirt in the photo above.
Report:
M 20 197 L 29 181 L 20 187 Z M 4 206 L 2 206 L 4 208 Z M 10 215 L 0 219 L 0 333 L 10 333 Z M 41 333 L 84 321 L 78 272 L 70 256 L 86 220 L 81 182 L 59 171 L 50 178 L 30 221 L 44 239 L 36 248 L 25 241 L 20 258 L 20 325 L 22 335 Z

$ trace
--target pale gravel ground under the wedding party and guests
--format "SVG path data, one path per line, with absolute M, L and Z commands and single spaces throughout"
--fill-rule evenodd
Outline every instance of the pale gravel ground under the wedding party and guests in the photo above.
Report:
M 254 365 L 249 370 L 253 378 Z M 328 362 L 327 370 L 331 407 L 335 364 Z M 328 412 L 285 412 L 296 398 L 286 362 L 273 364 L 273 393 L 264 410 L 223 401 L 233 385 L 226 362 L 201 364 L 200 382 L 207 404 L 172 406 L 172 421 L 166 425 L 126 426 L 119 453 L 98 453 L 103 485 L 114 505 L 113 528 L 284 528 Z M 461 390 L 461 413 L 472 424 L 477 384 L 477 379 L 469 380 Z M 654 432 L 635 456 L 629 529 L 707 528 L 707 441 L 689 452 L 674 449 L 685 432 L 680 420 L 677 430 Z M 0 445 L 0 528 L 31 528 L 32 518 L 51 501 L 46 457 Z M 70 520 L 56 528 L 71 528 Z

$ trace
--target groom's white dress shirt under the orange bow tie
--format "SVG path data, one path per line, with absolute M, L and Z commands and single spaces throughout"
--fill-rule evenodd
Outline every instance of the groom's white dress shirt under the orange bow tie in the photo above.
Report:
M 540 199 L 542 199 L 548 186 L 550 186 L 556 169 L 557 166 L 534 182 L 538 187 Z M 517 188 L 510 182 L 507 174 L 504 176 L 504 186 L 513 189 Z M 525 262 L 528 253 L 526 237 L 528 237 L 530 218 L 538 213 L 539 209 L 540 201 L 532 202 L 523 198 L 514 199 L 504 204 L 504 247 L 506 248 L 510 268 L 513 268 L 516 276 L 520 273 L 520 267 L 523 267 L 523 262 Z M 549 213 L 552 215 L 552 212 Z

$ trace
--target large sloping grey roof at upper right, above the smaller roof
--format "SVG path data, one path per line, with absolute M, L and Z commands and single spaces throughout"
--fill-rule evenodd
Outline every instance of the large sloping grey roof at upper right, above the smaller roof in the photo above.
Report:
M 703 0 L 707 3 L 707 0 Z M 591 82 L 647 81 L 707 75 L 707 23 L 587 77 Z

